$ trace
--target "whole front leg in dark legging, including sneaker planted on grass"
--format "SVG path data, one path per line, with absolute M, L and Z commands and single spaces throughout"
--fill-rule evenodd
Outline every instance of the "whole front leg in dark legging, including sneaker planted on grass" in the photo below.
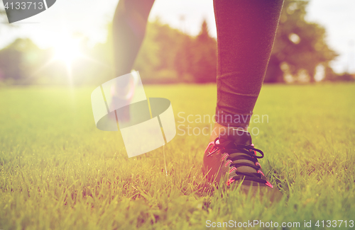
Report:
M 246 128 L 263 84 L 283 0 L 214 0 L 217 24 L 217 108 L 203 171 L 209 180 L 228 175 L 226 184 L 242 183 L 256 195 L 280 192 L 264 176 Z M 214 141 L 215 140 L 215 141 Z M 258 153 L 258 154 L 257 154 Z

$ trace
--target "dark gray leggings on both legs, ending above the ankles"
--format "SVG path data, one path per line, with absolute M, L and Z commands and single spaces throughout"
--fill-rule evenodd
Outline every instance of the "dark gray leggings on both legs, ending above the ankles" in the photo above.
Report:
M 154 0 L 120 0 L 114 15 L 116 76 L 133 67 Z M 283 0 L 214 0 L 220 125 L 247 127 L 268 67 Z

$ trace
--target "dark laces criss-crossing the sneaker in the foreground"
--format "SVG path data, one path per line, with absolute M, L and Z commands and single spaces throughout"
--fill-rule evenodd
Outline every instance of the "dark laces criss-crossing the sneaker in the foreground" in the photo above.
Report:
M 217 142 L 218 141 L 218 142 Z M 263 172 L 261 171 L 261 165 L 258 163 L 258 159 L 262 159 L 264 154 L 263 151 L 260 149 L 254 148 L 253 144 L 251 145 L 244 145 L 244 144 L 236 144 L 231 140 L 224 139 L 223 142 L 221 143 L 219 140 L 219 137 L 214 140 L 214 146 L 216 149 L 209 153 L 207 156 L 213 154 L 214 152 L 220 150 L 221 154 L 224 154 L 226 156 L 227 163 L 231 162 L 231 173 L 232 171 L 236 171 L 236 175 L 232 178 L 229 178 L 227 181 L 227 185 L 232 183 L 234 180 L 252 180 L 258 183 L 265 183 L 269 187 L 273 188 L 273 185 L 266 180 L 265 176 L 263 175 Z M 257 156 L 256 152 L 260 153 L 261 156 Z M 236 161 L 239 160 L 248 160 L 253 162 L 239 162 L 237 163 Z M 226 163 L 226 164 L 227 164 Z M 254 168 L 257 173 L 247 173 L 247 172 L 241 172 L 238 171 L 238 168 L 240 166 L 249 166 L 251 168 Z

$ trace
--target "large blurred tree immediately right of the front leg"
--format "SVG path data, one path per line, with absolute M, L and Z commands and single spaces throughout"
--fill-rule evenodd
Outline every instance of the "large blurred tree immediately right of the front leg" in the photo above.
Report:
M 313 82 L 315 68 L 322 64 L 327 69 L 337 56 L 325 41 L 324 28 L 305 21 L 308 2 L 285 1 L 265 82 L 283 82 L 284 71 L 292 74 L 296 81 L 295 76 L 306 71 Z

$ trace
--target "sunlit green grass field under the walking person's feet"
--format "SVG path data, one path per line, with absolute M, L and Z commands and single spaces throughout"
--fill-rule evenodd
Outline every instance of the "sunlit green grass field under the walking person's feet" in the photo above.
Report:
M 206 229 L 229 220 L 354 229 L 354 84 L 263 87 L 254 118 L 264 120 L 251 128 L 263 171 L 283 193 L 274 204 L 203 180 L 209 137 L 197 127 L 209 121 L 197 118 L 213 115 L 215 86 L 146 86 L 148 97 L 171 100 L 180 125 L 164 149 L 168 175 L 163 147 L 129 159 L 119 132 L 97 130 L 93 89 L 0 89 L 0 229 Z M 187 115 L 195 122 L 182 122 Z

